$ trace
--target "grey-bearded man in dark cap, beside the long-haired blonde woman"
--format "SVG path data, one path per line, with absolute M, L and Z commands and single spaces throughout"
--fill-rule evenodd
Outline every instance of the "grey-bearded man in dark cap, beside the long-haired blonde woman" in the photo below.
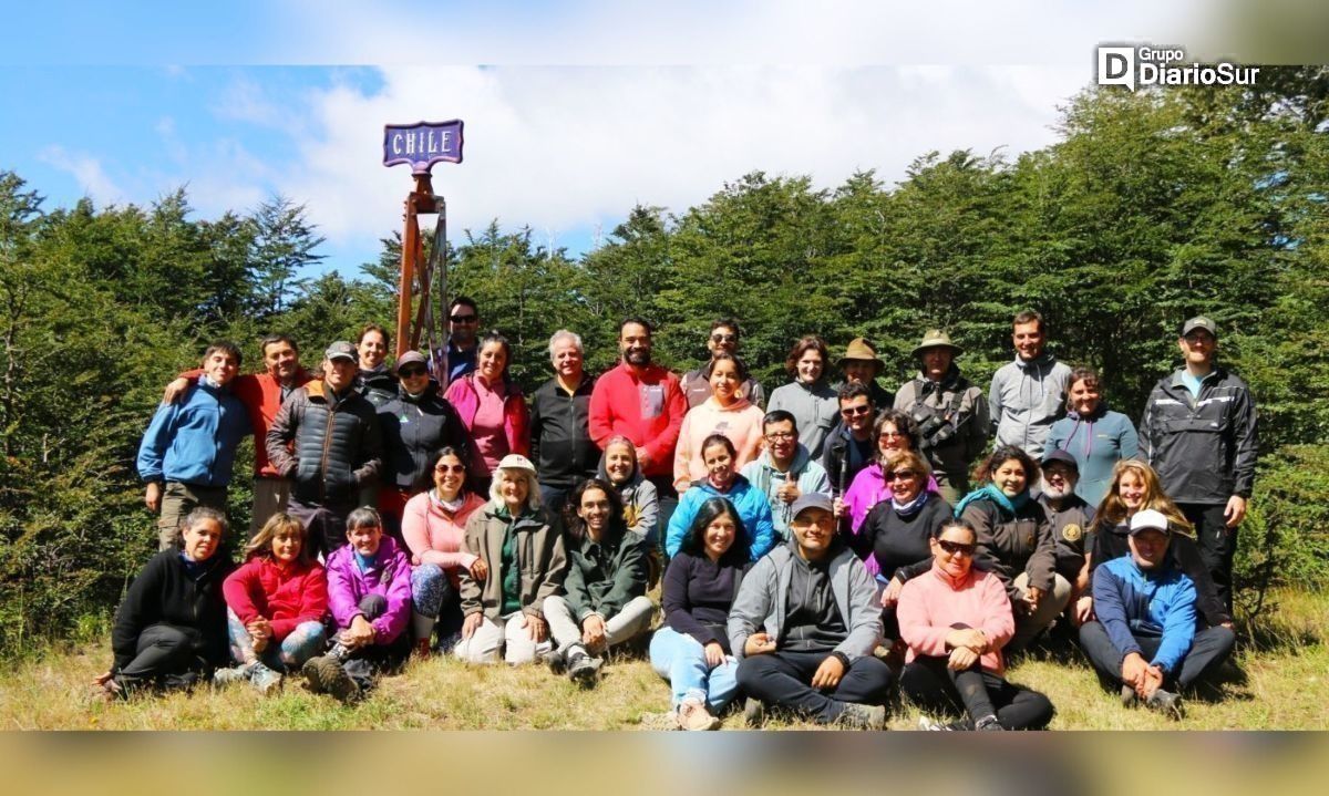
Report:
M 1090 617 L 1088 567 L 1086 566 L 1084 537 L 1094 528 L 1094 506 L 1075 494 L 1079 482 L 1079 464 L 1066 450 L 1049 450 L 1043 454 L 1042 481 L 1038 502 L 1043 505 L 1047 520 L 1053 524 L 1053 542 L 1057 558 L 1057 574 L 1071 585 L 1071 618 L 1075 625 L 1083 625 Z M 1084 597 L 1083 605 L 1080 598 Z

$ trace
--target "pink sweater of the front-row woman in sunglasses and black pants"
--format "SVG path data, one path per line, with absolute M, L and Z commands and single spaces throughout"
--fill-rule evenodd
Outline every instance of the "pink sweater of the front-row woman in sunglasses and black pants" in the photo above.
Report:
M 950 654 L 946 634 L 952 625 L 964 623 L 983 631 L 991 642 L 979 663 L 994 674 L 1006 670 L 1001 648 L 1015 633 L 1015 619 L 1010 613 L 1006 586 L 991 574 L 975 569 L 956 581 L 933 563 L 925 574 L 905 583 L 896 606 L 900 638 L 909 645 L 905 662 L 918 655 L 941 658 Z

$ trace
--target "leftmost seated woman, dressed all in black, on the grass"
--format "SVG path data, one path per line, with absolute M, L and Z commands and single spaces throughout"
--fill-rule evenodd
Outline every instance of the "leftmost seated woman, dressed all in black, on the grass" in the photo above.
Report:
M 197 508 L 181 524 L 179 546 L 144 565 L 116 611 L 110 671 L 93 680 L 101 696 L 145 686 L 187 688 L 226 666 L 222 582 L 235 567 L 217 555 L 225 534 L 225 514 Z

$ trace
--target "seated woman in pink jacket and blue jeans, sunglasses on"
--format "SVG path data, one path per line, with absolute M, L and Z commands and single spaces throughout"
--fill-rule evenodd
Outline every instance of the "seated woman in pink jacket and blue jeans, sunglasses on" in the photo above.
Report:
M 429 654 L 436 629 L 443 652 L 461 639 L 461 573 L 485 579 L 485 562 L 465 549 L 466 521 L 485 505 L 466 489 L 465 462 L 460 448 L 449 445 L 433 453 L 425 472 L 432 486 L 407 501 L 401 516 L 401 536 L 411 554 L 411 635 L 421 655 Z

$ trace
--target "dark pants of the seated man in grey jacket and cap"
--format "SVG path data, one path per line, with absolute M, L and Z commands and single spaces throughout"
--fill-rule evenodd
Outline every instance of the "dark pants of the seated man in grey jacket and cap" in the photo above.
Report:
M 788 708 L 829 724 L 840 718 L 847 702 L 884 704 L 894 675 L 872 655 L 853 662 L 829 694 L 809 684 L 829 652 L 767 652 L 739 662 L 739 687 L 763 703 Z

